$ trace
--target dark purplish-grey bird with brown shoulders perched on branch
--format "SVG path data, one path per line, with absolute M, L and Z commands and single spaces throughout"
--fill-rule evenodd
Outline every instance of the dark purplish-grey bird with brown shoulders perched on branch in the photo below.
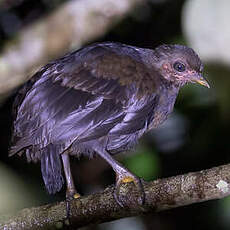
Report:
M 186 83 L 209 87 L 198 55 L 182 45 L 143 49 L 120 43 L 89 45 L 50 62 L 19 90 L 13 113 L 10 156 L 41 161 L 45 186 L 54 194 L 78 197 L 69 156 L 98 154 L 116 173 L 115 198 L 122 183 L 138 177 L 113 155 L 132 149 L 172 111 Z

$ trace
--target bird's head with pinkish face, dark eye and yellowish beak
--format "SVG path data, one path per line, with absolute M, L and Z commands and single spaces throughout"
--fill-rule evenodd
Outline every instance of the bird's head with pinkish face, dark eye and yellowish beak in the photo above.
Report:
M 209 88 L 202 76 L 203 64 L 193 49 L 182 45 L 161 45 L 155 49 L 161 76 L 182 86 L 199 83 Z

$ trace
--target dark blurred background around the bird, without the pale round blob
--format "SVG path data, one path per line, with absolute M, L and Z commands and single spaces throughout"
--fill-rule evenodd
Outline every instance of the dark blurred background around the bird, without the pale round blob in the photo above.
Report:
M 64 2 L 3 1 L 0 8 L 0 48 L 22 28 L 54 11 Z M 182 32 L 181 14 L 185 2 L 148 1 L 97 41 L 119 41 L 148 48 L 162 43 L 187 44 L 188 39 Z M 226 64 L 205 62 L 204 75 L 211 89 L 198 85 L 185 86 L 170 118 L 159 129 L 145 135 L 135 153 L 122 154 L 118 159 L 146 180 L 228 163 L 229 73 Z M 39 164 L 27 164 L 25 157 L 8 158 L 12 100 L 12 97 L 9 98 L 0 107 L 0 214 L 63 200 L 65 197 L 64 189 L 54 196 L 46 193 Z M 115 181 L 113 171 L 100 158 L 90 161 L 72 159 L 72 169 L 77 188 L 83 194 L 103 189 Z M 228 198 L 209 201 L 92 228 L 229 229 L 229 202 Z

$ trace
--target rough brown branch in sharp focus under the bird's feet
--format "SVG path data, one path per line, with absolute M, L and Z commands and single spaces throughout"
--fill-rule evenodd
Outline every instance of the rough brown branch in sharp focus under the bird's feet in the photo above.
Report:
M 83 196 L 71 202 L 71 227 L 99 224 L 128 216 L 159 212 L 192 203 L 220 199 L 230 194 L 230 164 L 151 182 L 143 182 L 145 205 L 137 206 L 135 186 L 124 185 L 127 206 L 120 207 L 113 196 L 114 187 Z M 65 202 L 24 209 L 0 223 L 0 229 L 49 229 L 66 219 Z

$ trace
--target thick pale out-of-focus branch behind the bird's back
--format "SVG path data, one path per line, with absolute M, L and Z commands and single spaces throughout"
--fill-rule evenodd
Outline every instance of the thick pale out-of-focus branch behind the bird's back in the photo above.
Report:
M 48 60 L 103 36 L 142 0 L 72 0 L 26 27 L 0 58 L 0 96 Z

